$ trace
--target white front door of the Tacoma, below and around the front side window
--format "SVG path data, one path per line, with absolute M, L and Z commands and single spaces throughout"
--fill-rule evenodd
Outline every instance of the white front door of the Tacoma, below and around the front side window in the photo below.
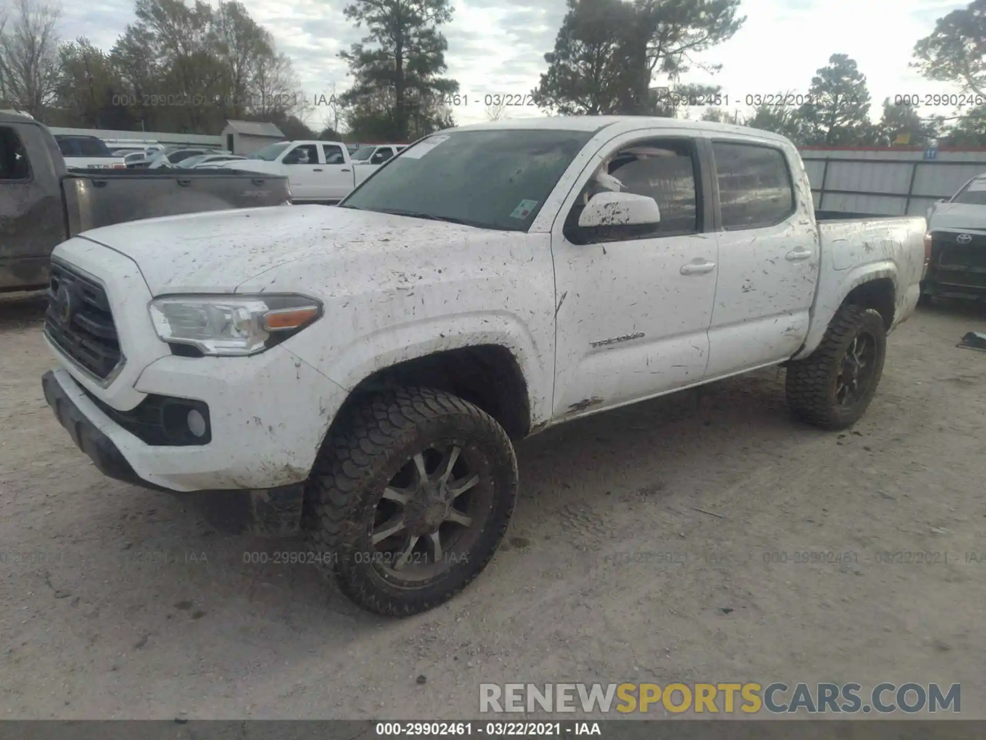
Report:
M 718 261 L 711 181 L 699 140 L 669 134 L 624 134 L 599 153 L 603 174 L 622 191 L 657 201 L 659 224 L 582 230 L 578 216 L 598 180 L 591 165 L 552 227 L 555 418 L 658 396 L 705 376 Z

